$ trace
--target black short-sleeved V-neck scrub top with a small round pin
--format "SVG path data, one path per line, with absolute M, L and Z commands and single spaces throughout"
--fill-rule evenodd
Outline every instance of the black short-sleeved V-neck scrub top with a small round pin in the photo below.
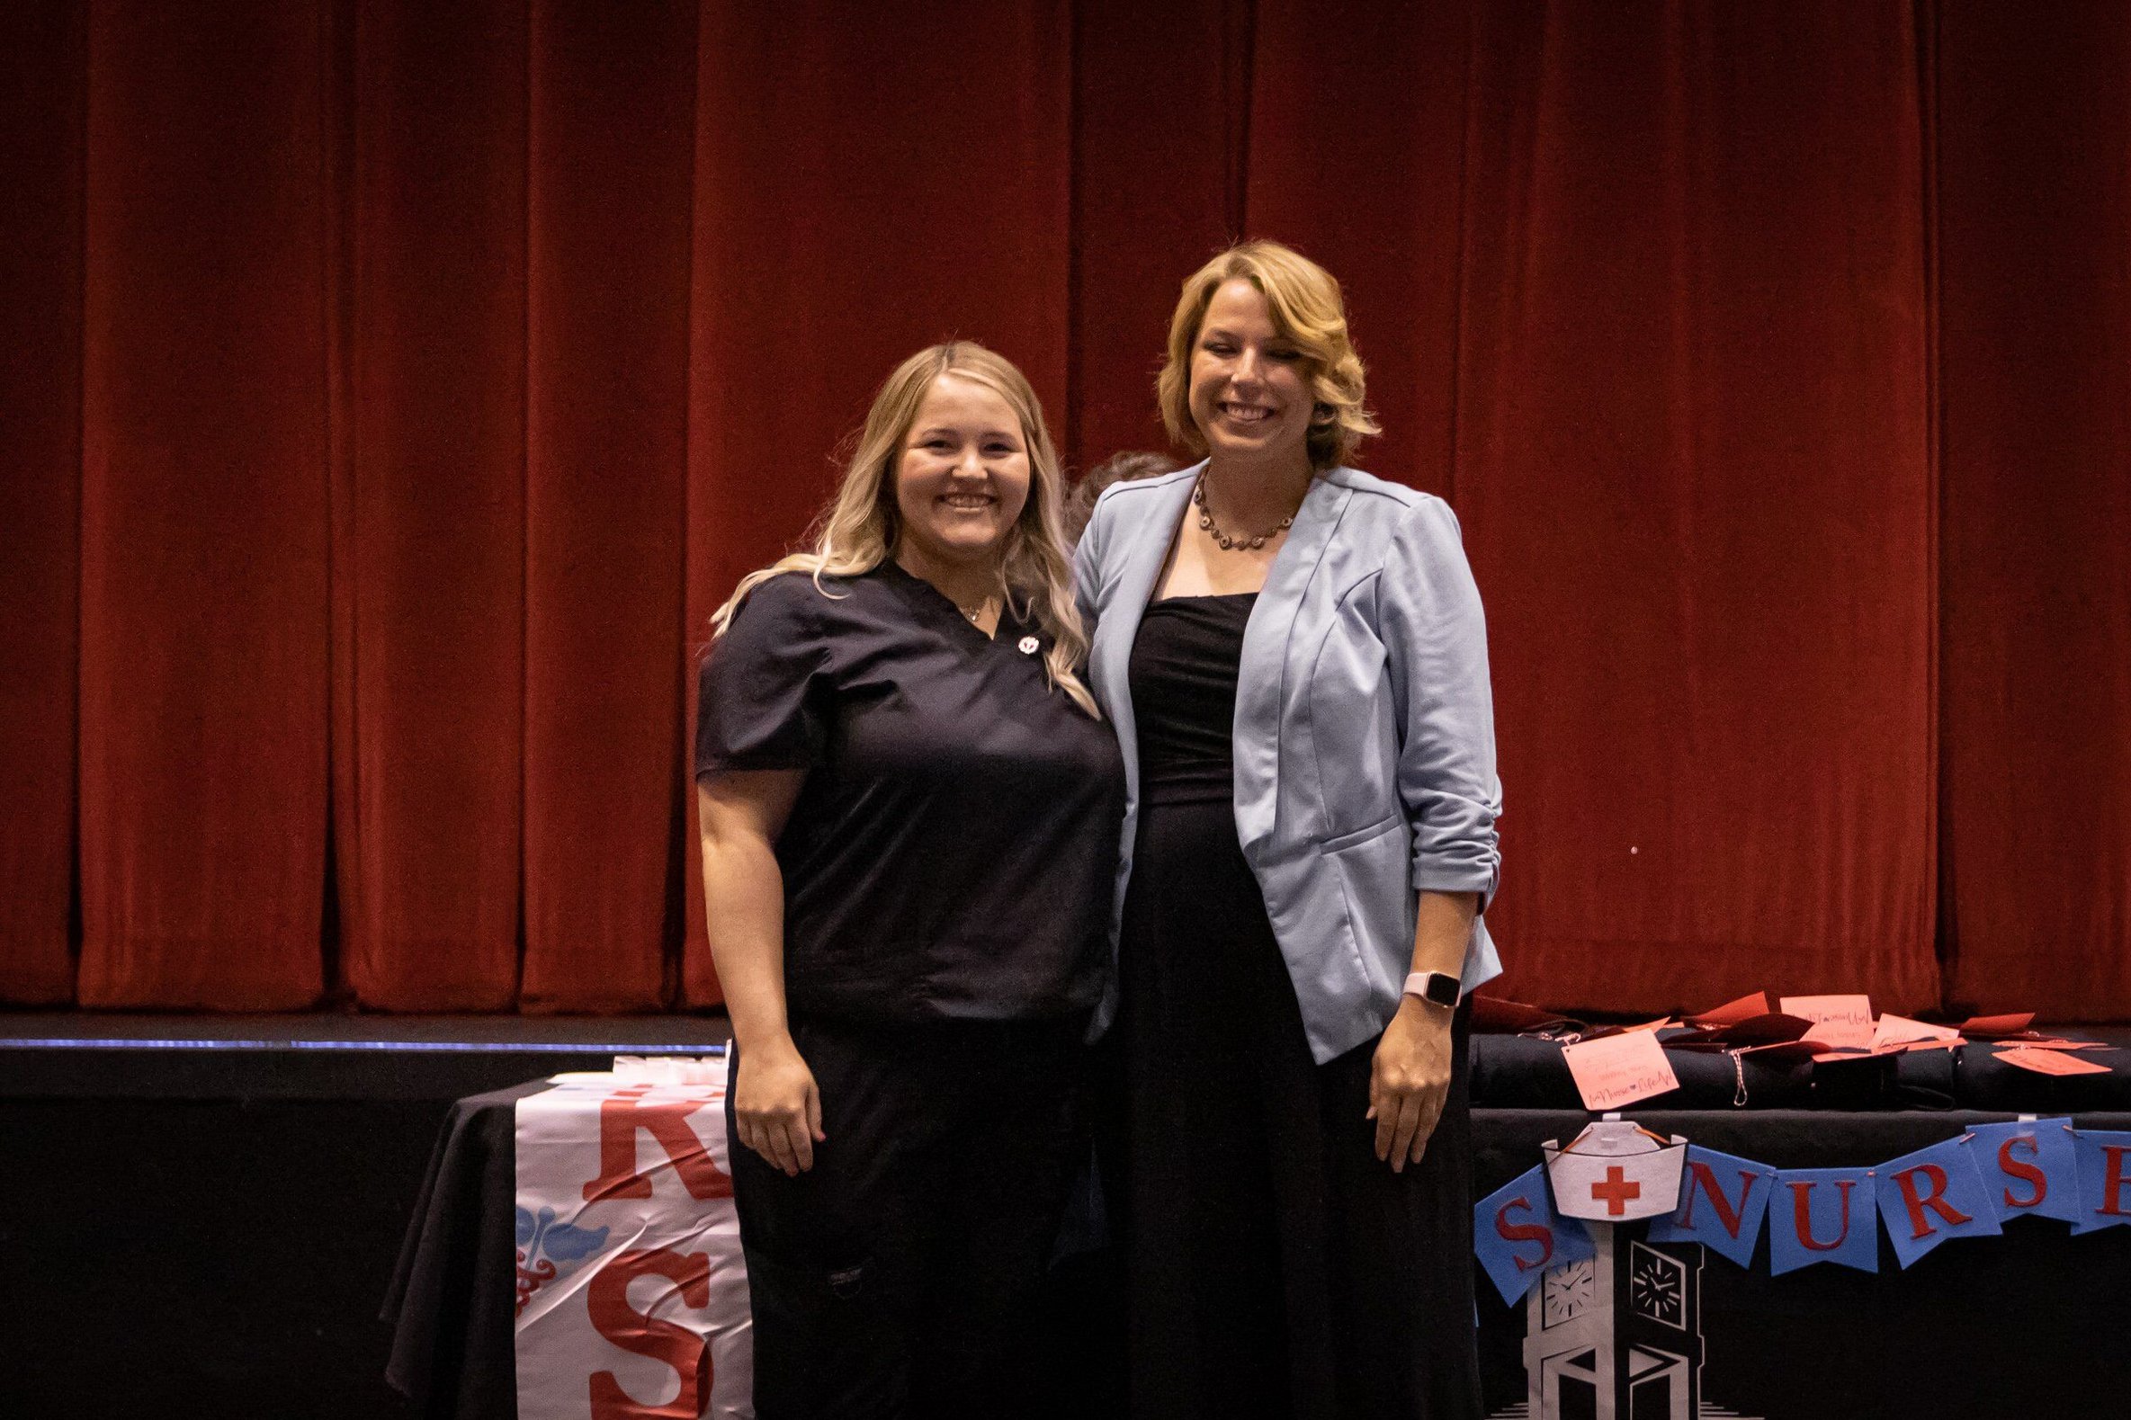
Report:
M 806 771 L 776 843 L 793 1016 L 1040 1020 L 1102 996 L 1125 771 L 1044 679 L 1048 649 L 1010 609 L 987 639 L 893 562 L 771 577 L 712 645 L 697 779 Z

